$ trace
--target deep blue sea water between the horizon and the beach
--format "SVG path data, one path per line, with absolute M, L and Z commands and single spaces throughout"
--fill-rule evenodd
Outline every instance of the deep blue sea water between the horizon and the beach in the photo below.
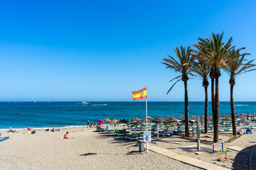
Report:
M 0 129 L 79 127 L 97 119 L 121 120 L 146 116 L 145 102 L 0 102 Z M 256 102 L 235 102 L 236 113 L 255 113 Z M 220 114 L 230 114 L 230 102 L 220 102 Z M 183 102 L 148 102 L 148 115 L 156 118 L 184 114 Z M 209 102 L 211 115 L 211 103 Z M 189 117 L 204 115 L 204 102 L 189 102 Z

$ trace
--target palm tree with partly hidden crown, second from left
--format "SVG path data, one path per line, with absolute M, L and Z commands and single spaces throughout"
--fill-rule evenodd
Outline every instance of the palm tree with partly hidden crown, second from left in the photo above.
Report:
M 205 89 L 205 133 L 208 132 L 208 75 L 210 72 L 210 69 L 208 67 L 208 63 L 206 60 L 206 57 L 204 57 L 200 52 L 195 51 L 196 59 L 198 62 L 195 62 L 192 67 L 192 71 L 195 72 L 198 77 L 201 77 L 203 79 L 203 87 Z

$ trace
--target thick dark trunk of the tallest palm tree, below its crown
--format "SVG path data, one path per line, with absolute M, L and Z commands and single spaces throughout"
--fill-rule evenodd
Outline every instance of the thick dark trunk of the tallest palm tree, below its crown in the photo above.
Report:
M 214 134 L 213 134 L 213 142 L 218 142 L 218 122 L 219 122 L 219 84 L 218 77 L 215 78 L 215 123 L 213 124 Z

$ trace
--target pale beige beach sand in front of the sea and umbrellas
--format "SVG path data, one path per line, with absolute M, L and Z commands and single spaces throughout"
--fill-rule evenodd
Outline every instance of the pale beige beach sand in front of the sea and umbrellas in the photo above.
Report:
M 73 139 L 60 140 L 66 131 Z M 137 142 L 104 132 L 95 132 L 94 128 L 70 128 L 56 132 L 36 130 L 36 134 L 23 132 L 28 130 L 19 130 L 17 133 L 1 130 L 2 136 L 10 136 L 9 140 L 0 142 L 1 169 L 198 169 L 156 152 L 140 153 Z M 255 141 L 255 133 L 242 135 L 227 146 L 248 147 Z M 197 155 L 181 151 L 178 147 L 196 145 L 196 142 L 178 136 L 159 139 L 154 137 L 150 145 L 181 152 L 206 162 L 232 166 L 230 163 L 218 162 L 218 157 L 223 156 L 221 152 Z M 238 152 L 230 151 L 228 155 L 235 157 L 236 154 Z

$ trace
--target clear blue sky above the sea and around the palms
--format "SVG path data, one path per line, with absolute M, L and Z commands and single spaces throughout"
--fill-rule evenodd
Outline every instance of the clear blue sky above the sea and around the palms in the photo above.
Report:
M 183 82 L 160 64 L 174 47 L 213 31 L 256 58 L 256 1 L 1 1 L 0 101 L 183 101 Z M 256 72 L 236 79 L 235 101 L 256 101 Z M 229 101 L 222 71 L 220 101 Z M 189 101 L 203 101 L 201 79 Z M 210 86 L 209 86 L 210 96 Z M 209 98 L 210 99 L 210 98 Z

